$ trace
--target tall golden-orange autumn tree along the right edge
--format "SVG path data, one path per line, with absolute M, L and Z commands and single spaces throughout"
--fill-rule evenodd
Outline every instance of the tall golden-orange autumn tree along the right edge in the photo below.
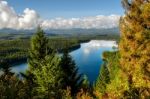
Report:
M 136 89 L 136 94 L 146 98 L 150 96 L 150 1 L 122 3 L 125 16 L 120 20 L 121 68 L 128 76 L 130 90 Z

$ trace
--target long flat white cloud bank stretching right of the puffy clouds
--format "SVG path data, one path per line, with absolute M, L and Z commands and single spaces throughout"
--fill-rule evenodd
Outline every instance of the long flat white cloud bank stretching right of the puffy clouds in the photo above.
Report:
M 113 28 L 117 27 L 119 23 L 119 15 L 98 15 L 85 18 L 56 18 L 52 20 L 45 20 L 42 22 L 42 26 L 46 29 L 49 28 Z

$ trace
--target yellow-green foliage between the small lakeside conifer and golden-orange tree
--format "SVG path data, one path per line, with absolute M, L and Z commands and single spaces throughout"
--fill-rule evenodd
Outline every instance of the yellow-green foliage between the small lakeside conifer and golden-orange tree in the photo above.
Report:
M 120 68 L 119 52 L 108 52 L 107 65 L 110 71 L 110 81 L 107 85 L 107 93 L 115 96 L 115 98 L 123 97 L 124 90 L 128 90 L 128 80 L 124 72 Z

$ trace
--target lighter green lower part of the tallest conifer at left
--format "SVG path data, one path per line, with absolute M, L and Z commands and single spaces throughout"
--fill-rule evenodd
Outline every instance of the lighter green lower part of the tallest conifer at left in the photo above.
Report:
M 47 56 L 39 65 L 41 69 L 35 70 L 38 97 L 42 99 L 60 99 L 62 94 L 62 72 L 58 56 Z

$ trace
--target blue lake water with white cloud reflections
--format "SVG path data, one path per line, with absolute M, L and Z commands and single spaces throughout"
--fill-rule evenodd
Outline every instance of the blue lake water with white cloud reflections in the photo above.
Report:
M 103 63 L 102 53 L 104 51 L 113 51 L 113 46 L 117 47 L 115 41 L 91 40 L 88 43 L 81 43 L 81 47 L 70 52 L 70 55 L 79 68 L 79 73 L 86 74 L 89 81 L 94 82 Z M 11 69 L 15 73 L 25 72 L 28 66 L 27 63 L 22 63 L 15 65 Z

